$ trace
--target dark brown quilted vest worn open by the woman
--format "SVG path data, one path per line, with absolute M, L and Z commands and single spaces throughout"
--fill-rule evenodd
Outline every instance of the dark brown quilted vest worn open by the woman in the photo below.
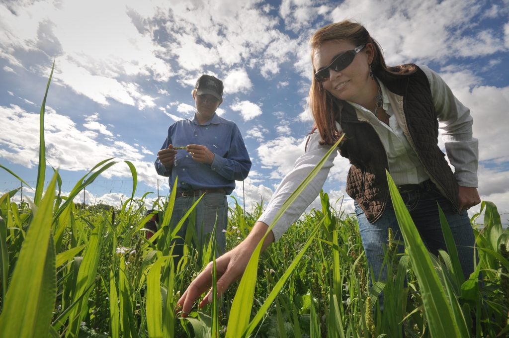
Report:
M 410 75 L 386 80 L 384 85 L 403 96 L 403 110 L 410 145 L 431 180 L 441 193 L 459 210 L 458 182 L 438 147 L 438 120 L 426 74 L 416 67 Z M 364 211 L 367 220 L 375 222 L 384 212 L 389 198 L 385 170 L 389 170 L 385 149 L 375 129 L 359 121 L 355 108 L 336 100 L 343 109 L 339 117 L 345 132 L 340 153 L 352 164 L 348 172 L 346 192 Z

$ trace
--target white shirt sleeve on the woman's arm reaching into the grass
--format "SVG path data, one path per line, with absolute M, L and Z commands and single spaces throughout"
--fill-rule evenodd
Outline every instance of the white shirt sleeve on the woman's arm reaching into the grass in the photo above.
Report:
M 324 155 L 329 151 L 331 146 L 321 146 L 318 142 L 320 140 L 320 134 L 317 132 L 307 136 L 306 150 L 294 164 L 294 167 L 290 173 L 288 173 L 279 183 L 276 191 L 270 199 L 269 205 L 265 212 L 260 216 L 258 220 L 268 224 L 272 224 L 276 214 L 281 209 L 282 205 L 289 198 L 293 191 L 302 183 L 307 175 L 315 168 L 320 162 Z M 302 215 L 306 208 L 316 199 L 320 190 L 329 175 L 330 168 L 334 165 L 332 162 L 337 155 L 337 151 L 330 154 L 318 174 L 315 178 L 309 182 L 302 193 L 297 197 L 294 203 L 286 210 L 286 212 L 279 218 L 272 233 L 274 234 L 274 240 L 277 241 L 291 226 L 297 218 Z

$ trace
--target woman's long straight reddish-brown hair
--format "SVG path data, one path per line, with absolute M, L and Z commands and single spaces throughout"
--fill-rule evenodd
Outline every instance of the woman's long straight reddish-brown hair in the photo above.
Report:
M 326 41 L 347 40 L 358 46 L 363 43 L 373 45 L 373 62 L 371 68 L 373 74 L 382 82 L 386 79 L 412 73 L 414 69 L 409 66 L 387 67 L 382 53 L 382 48 L 373 39 L 361 24 L 349 20 L 328 24 L 309 39 L 311 47 L 311 59 L 321 45 Z M 322 140 L 320 144 L 333 145 L 341 136 L 337 131 L 335 121 L 341 116 L 343 102 L 334 99 L 313 76 L 316 69 L 313 67 L 311 88 L 309 89 L 309 108 L 315 119 L 314 129 L 318 129 Z

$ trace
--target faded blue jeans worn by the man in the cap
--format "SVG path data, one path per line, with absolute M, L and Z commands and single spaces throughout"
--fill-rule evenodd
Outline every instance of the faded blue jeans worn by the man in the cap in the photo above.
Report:
M 192 207 L 194 202 L 200 196 L 196 197 L 178 197 L 175 199 L 173 207 L 172 218 L 169 226 L 173 229 L 177 223 L 182 219 L 182 216 Z M 214 226 L 216 224 L 216 252 L 217 255 L 224 253 L 226 246 L 225 230 L 228 225 L 228 202 L 227 196 L 224 193 L 208 192 L 206 193 L 200 203 L 194 208 L 194 212 L 189 214 L 188 218 L 182 224 L 182 228 L 177 233 L 177 238 L 174 240 L 176 244 L 173 254 L 177 255 L 176 262 L 180 260 L 183 255 L 183 245 L 193 245 L 199 251 L 205 245 L 208 245 Z M 192 227 L 192 229 L 189 229 Z M 186 233 L 188 230 L 193 234 L 190 242 L 185 243 Z

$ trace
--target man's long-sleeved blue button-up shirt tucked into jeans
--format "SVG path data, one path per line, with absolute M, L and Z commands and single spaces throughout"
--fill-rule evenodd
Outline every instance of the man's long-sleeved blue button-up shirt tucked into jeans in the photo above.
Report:
M 249 174 L 251 160 L 237 125 L 217 114 L 200 124 L 196 116 L 191 120 L 180 120 L 168 128 L 168 136 L 161 149 L 185 147 L 187 145 L 206 146 L 214 153 L 212 164 L 196 162 L 186 150 L 177 150 L 175 163 L 168 169 L 157 159 L 156 171 L 168 177 L 173 189 L 178 176 L 178 191 L 224 188 L 227 194 L 235 189 L 235 180 L 242 181 Z

